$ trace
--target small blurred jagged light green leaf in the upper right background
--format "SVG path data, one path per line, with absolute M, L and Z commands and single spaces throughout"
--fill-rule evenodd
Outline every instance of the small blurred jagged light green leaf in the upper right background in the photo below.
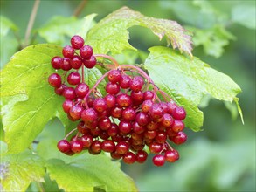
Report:
M 194 32 L 194 45 L 203 45 L 205 54 L 215 58 L 219 58 L 224 53 L 224 47 L 229 45 L 230 40 L 236 39 L 232 33 L 226 31 L 225 27 L 220 24 L 209 29 L 187 28 Z

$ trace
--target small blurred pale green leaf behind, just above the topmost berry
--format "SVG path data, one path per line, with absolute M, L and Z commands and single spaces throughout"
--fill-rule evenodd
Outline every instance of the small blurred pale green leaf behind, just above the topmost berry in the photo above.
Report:
M 55 16 L 47 24 L 38 29 L 38 34 L 42 38 L 45 38 L 47 42 L 56 44 L 63 44 L 66 36 L 71 38 L 77 34 L 85 38 L 87 31 L 93 25 L 93 18 L 95 16 L 96 14 L 91 14 L 83 19 Z

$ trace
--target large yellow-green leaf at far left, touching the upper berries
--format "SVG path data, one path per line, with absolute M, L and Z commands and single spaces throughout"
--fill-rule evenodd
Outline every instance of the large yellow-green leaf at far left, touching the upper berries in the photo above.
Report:
M 60 53 L 59 46 L 32 45 L 17 52 L 1 72 L 1 97 L 8 101 L 2 102 L 1 115 L 11 153 L 23 151 L 49 120 L 63 113 L 64 99 L 47 82 L 54 72 L 51 58 Z

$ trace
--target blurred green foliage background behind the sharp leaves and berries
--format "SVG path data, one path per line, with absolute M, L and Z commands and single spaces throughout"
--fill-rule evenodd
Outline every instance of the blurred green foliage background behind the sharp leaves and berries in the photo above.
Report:
M 100 21 L 112 11 L 128 6 L 143 15 L 182 24 L 193 33 L 194 56 L 229 75 L 243 90 L 238 97 L 245 125 L 234 106 L 206 99 L 200 106 L 204 112 L 204 131 L 186 130 L 188 141 L 177 147 L 179 161 L 161 168 L 154 167 L 151 158 L 142 165 L 121 165 L 140 191 L 255 191 L 255 1 L 88 0 L 82 6 L 80 3 L 41 0 L 30 44 L 49 41 L 42 33 L 33 34 L 49 27 L 52 17 L 82 18 L 97 13 L 95 20 Z M 1 30 L 1 67 L 24 44 L 33 4 L 32 0 L 1 0 L 1 15 L 18 28 L 14 27 L 14 32 Z M 147 29 L 132 27 L 128 31 L 130 44 L 146 53 L 153 45 L 166 45 Z M 52 43 L 65 44 L 65 40 Z

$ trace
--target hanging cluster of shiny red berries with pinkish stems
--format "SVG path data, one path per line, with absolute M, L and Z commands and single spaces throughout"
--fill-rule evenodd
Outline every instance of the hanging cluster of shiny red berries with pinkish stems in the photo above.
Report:
M 155 154 L 156 166 L 178 160 L 179 154 L 169 141 L 179 145 L 187 140 L 183 107 L 177 106 L 139 67 L 118 65 L 107 55 L 93 56 L 92 47 L 84 45 L 80 36 L 73 36 L 71 45 L 63 48 L 64 58 L 52 58 L 54 69 L 66 71 L 64 77 L 73 70 L 66 78 L 69 86 L 58 73 L 48 79 L 55 93 L 66 99 L 62 106 L 67 117 L 79 120 L 77 127 L 58 142 L 59 151 L 68 155 L 82 150 L 90 154 L 104 151 L 128 164 L 143 163 L 148 153 Z M 114 69 L 89 87 L 84 82 L 84 67 L 93 68 L 95 57 L 110 59 Z M 98 89 L 103 80 L 107 81 L 104 96 Z M 68 141 L 73 132 L 77 134 Z

